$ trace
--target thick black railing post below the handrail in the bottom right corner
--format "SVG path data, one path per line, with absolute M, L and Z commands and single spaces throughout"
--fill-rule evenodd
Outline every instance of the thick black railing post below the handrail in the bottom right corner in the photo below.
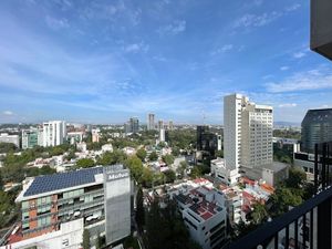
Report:
M 331 199 L 318 206 L 318 249 L 331 249 Z

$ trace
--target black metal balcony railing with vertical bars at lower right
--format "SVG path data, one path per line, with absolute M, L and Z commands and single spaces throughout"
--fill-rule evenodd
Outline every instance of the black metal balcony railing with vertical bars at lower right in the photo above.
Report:
M 315 145 L 314 187 L 317 194 L 312 198 L 229 243 L 226 248 L 331 249 L 331 142 Z

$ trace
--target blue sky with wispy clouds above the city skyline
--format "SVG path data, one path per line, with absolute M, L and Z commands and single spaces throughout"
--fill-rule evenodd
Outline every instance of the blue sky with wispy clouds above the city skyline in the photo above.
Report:
M 332 107 L 309 1 L 0 1 L 0 123 L 222 124 L 239 92 L 300 123 Z

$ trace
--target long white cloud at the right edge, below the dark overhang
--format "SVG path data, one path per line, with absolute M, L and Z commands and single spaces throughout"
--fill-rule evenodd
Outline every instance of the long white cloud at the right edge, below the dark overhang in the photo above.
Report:
M 332 72 L 328 69 L 298 72 L 281 82 L 269 82 L 266 87 L 271 93 L 332 89 Z

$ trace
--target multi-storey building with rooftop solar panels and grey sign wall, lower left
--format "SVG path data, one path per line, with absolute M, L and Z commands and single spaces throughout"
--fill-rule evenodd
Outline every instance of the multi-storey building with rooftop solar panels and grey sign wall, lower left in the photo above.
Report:
M 35 177 L 27 180 L 17 203 L 22 212 L 17 242 L 28 240 L 33 246 L 33 238 L 77 219 L 92 242 L 105 235 L 110 245 L 131 234 L 131 178 L 122 165 Z

